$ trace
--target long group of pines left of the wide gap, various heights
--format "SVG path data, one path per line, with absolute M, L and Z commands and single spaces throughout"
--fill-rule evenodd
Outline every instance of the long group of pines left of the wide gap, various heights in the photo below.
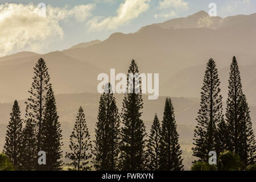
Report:
M 139 73 L 134 60 L 128 73 Z M 155 114 L 147 140 L 141 119 L 142 94 L 135 92 L 135 78 L 128 84 L 133 85 L 133 92 L 125 94 L 121 113 L 112 93 L 112 85 L 105 85 L 105 92 L 100 97 L 96 139 L 93 142 L 84 110 L 79 108 L 70 136 L 69 152 L 65 154 L 65 158 L 70 160 L 66 164 L 69 169 L 183 170 L 171 98 L 166 98 L 162 125 Z M 48 68 L 43 59 L 39 59 L 35 65 L 28 92 L 30 97 L 25 102 L 25 119 L 21 118 L 18 102 L 14 102 L 3 153 L 19 170 L 61 170 L 64 166 L 61 160 L 62 131 Z M 38 164 L 39 151 L 46 152 L 45 165 Z

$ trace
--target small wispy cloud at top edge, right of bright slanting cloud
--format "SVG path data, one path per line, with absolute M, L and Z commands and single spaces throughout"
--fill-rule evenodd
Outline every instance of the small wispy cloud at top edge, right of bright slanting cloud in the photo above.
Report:
M 164 0 L 159 2 L 158 9 L 162 13 L 155 14 L 155 18 L 171 18 L 179 11 L 188 10 L 188 3 L 183 0 Z

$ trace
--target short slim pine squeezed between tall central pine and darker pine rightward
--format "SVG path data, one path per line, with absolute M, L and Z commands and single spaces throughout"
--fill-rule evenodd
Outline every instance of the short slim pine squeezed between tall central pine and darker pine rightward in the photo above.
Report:
M 150 130 L 150 136 L 147 143 L 147 169 L 158 171 L 160 166 L 160 133 L 161 127 L 158 115 L 155 118 Z

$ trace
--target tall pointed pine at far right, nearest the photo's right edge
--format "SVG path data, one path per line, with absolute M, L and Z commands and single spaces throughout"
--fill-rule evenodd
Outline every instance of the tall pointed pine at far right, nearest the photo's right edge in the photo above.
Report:
M 226 122 L 229 131 L 228 149 L 238 154 L 245 164 L 255 163 L 255 137 L 250 111 L 242 92 L 241 76 L 236 57 L 230 65 Z

